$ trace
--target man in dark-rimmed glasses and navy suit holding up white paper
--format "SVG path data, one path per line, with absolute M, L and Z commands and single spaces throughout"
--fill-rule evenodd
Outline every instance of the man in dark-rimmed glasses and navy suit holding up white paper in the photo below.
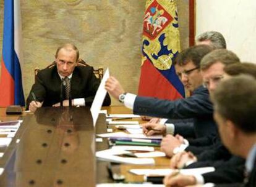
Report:
M 174 62 L 176 73 L 182 83 L 186 89 L 193 92 L 189 98 L 169 101 L 125 94 L 119 82 L 113 77 L 108 79 L 105 87 L 114 98 L 118 98 L 128 108 L 132 108 L 136 114 L 171 119 L 191 119 L 194 125 L 198 126 L 198 130 L 193 132 L 194 135 L 203 137 L 209 132 L 209 129 L 210 133 L 216 132 L 216 125 L 212 117 L 213 108 L 209 101 L 208 90 L 202 86 L 202 76 L 199 70 L 200 60 L 211 50 L 213 49 L 210 46 L 193 46 L 183 50 Z M 186 131 L 184 127 L 171 125 L 173 128 L 169 128 L 167 133 L 173 133 L 174 129 L 175 132 L 181 134 Z M 146 133 L 150 135 L 150 131 Z

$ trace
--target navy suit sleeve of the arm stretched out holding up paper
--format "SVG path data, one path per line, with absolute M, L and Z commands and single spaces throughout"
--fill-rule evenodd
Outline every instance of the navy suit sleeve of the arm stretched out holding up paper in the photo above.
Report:
M 194 92 L 189 98 L 175 101 L 159 100 L 150 97 L 136 97 L 134 114 L 161 118 L 195 118 L 213 113 L 207 90 Z

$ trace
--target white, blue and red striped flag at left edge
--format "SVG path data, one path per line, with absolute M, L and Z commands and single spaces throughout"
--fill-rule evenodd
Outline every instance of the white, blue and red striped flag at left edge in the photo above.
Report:
M 4 1 L 0 106 L 25 105 L 22 87 L 21 22 L 19 0 Z

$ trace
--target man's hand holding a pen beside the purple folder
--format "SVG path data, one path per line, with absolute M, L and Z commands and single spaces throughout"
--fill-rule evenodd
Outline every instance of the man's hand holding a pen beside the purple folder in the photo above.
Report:
M 155 134 L 163 134 L 166 132 L 166 126 L 156 123 L 147 122 L 142 124 L 143 133 L 147 136 L 155 135 Z

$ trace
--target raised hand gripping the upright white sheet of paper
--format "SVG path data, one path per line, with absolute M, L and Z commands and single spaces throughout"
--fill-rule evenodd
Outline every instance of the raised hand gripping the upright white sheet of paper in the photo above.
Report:
M 121 84 L 113 76 L 109 77 L 105 84 L 105 89 L 118 100 L 119 95 L 124 94 Z

